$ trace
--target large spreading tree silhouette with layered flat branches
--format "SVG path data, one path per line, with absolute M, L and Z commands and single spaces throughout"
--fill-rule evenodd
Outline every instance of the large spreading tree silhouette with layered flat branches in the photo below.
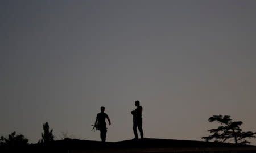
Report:
M 209 122 L 218 122 L 221 124 L 217 129 L 208 130 L 212 135 L 202 137 L 205 141 L 214 140 L 214 142 L 226 142 L 226 140 L 234 139 L 235 144 L 250 144 L 246 138 L 256 138 L 254 132 L 243 132 L 240 126 L 242 121 L 232 121 L 229 115 L 213 115 L 208 119 Z

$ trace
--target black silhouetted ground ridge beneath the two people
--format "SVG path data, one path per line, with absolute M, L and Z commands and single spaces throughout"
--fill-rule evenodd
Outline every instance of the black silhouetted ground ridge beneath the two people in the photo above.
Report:
M 20 150 L 26 152 L 113 152 L 113 153 L 156 153 L 156 152 L 204 152 L 240 153 L 256 152 L 256 146 L 230 143 L 200 142 L 190 140 L 150 139 L 125 140 L 121 142 L 97 142 L 89 140 L 65 139 L 50 144 L 31 144 L 22 148 L 0 148 L 0 152 Z

